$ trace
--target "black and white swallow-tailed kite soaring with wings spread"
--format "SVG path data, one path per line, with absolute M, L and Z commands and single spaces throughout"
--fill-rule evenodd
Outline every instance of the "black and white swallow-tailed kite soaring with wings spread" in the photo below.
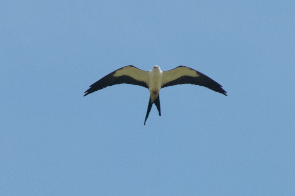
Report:
M 84 96 L 101 90 L 107 86 L 123 83 L 139 85 L 149 89 L 150 99 L 148 102 L 148 110 L 145 116 L 145 121 L 148 119 L 153 103 L 155 103 L 159 111 L 159 116 L 161 115 L 159 92 L 161 88 L 167 86 L 177 84 L 196 84 L 227 96 L 227 92 L 224 91 L 219 83 L 199 71 L 186 66 L 178 66 L 169 71 L 162 71 L 157 65 L 153 66 L 150 71 L 143 71 L 132 65 L 119 68 L 104 76 L 99 81 L 91 84 L 89 86 L 90 88 L 84 92 Z

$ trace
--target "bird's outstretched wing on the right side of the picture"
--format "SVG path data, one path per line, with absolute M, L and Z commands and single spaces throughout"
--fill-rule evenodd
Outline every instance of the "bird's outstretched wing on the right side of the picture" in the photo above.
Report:
M 227 96 L 227 92 L 224 91 L 219 83 L 215 82 L 203 73 L 186 66 L 178 66 L 169 71 L 163 71 L 162 88 L 177 84 L 195 84 L 204 86 Z

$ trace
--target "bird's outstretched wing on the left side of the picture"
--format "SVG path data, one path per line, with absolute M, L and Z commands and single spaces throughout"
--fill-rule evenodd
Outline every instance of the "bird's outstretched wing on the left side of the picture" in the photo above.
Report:
M 134 84 L 148 88 L 148 73 L 132 65 L 122 67 L 90 85 L 84 96 L 115 84 Z

